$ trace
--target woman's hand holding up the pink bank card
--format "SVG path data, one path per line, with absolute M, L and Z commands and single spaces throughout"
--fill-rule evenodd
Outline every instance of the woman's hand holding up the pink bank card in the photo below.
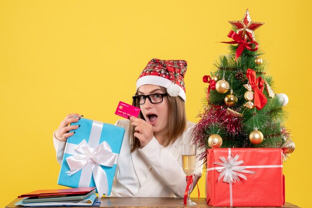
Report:
M 130 117 L 130 122 L 132 126 L 135 126 L 136 132 L 134 136 L 140 140 L 141 148 L 145 147 L 154 137 L 153 126 L 147 121 L 135 116 Z

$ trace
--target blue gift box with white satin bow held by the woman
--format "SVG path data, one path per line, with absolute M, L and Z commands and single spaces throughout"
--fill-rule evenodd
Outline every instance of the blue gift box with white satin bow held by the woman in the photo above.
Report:
M 58 184 L 97 187 L 100 198 L 109 196 L 125 129 L 86 118 L 73 125 L 80 127 L 67 139 Z

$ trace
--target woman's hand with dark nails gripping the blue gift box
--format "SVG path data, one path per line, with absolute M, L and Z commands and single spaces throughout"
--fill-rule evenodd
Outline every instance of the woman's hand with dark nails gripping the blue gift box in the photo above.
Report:
M 76 116 L 76 117 L 74 117 Z M 60 123 L 60 126 L 55 131 L 55 138 L 59 141 L 66 141 L 68 137 L 74 135 L 74 131 L 68 132 L 70 130 L 75 130 L 79 127 L 79 125 L 70 125 L 70 123 L 77 122 L 83 115 L 80 115 L 78 113 L 71 113 L 68 114 L 64 120 Z

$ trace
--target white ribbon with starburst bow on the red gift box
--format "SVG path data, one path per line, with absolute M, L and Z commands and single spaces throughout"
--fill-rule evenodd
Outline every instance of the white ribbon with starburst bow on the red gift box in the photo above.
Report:
M 247 177 L 241 173 L 255 174 L 255 171 L 245 170 L 246 168 L 282 168 L 283 165 L 250 165 L 250 166 L 240 166 L 244 163 L 243 160 L 237 161 L 239 155 L 236 155 L 233 158 L 231 154 L 231 148 L 228 148 L 228 157 L 225 160 L 224 157 L 219 157 L 221 162 L 214 162 L 215 165 L 221 165 L 222 167 L 213 167 L 207 168 L 207 171 L 217 170 L 218 173 L 221 173 L 218 177 L 218 182 L 223 178 L 223 182 L 229 184 L 230 189 L 230 207 L 233 207 L 233 192 L 232 192 L 232 183 L 240 181 L 239 177 L 247 180 Z M 240 172 L 240 173 L 239 173 Z M 206 174 L 207 176 L 207 174 Z M 207 180 L 206 180 L 207 181 Z

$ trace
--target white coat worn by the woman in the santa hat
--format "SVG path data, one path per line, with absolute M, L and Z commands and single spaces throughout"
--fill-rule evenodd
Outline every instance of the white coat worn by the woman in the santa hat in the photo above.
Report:
M 187 129 L 177 140 L 163 147 L 154 137 L 144 148 L 130 153 L 129 120 L 118 120 L 117 126 L 125 128 L 115 178 L 113 197 L 184 197 L 186 180 L 182 171 L 179 144 L 191 143 L 194 123 L 187 122 Z M 53 136 L 54 137 L 54 136 Z M 61 164 L 66 142 L 53 138 L 57 161 Z M 202 161 L 196 161 L 193 187 L 202 174 Z

